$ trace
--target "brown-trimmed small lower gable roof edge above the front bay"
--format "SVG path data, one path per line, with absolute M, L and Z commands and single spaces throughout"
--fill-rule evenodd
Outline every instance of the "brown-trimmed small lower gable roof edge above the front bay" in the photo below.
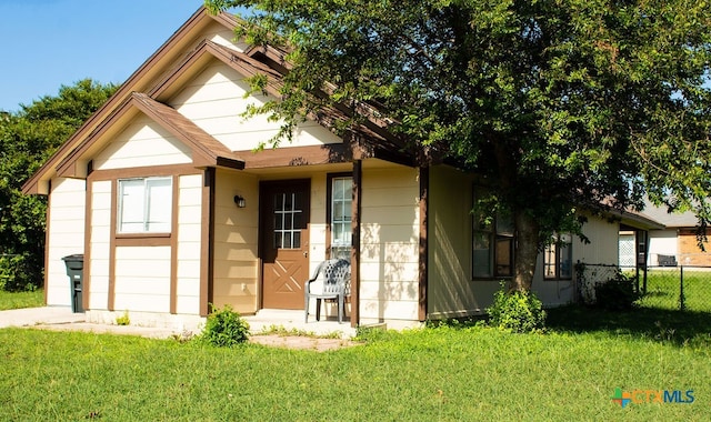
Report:
M 189 119 L 180 114 L 174 109 L 152 100 L 150 97 L 139 92 L 131 96 L 106 119 L 94 132 L 88 135 L 84 141 L 77 147 L 57 165 L 60 177 L 82 178 L 84 174 L 77 174 L 76 162 L 84 155 L 91 147 L 114 124 L 121 120 L 133 108 L 140 110 L 151 120 L 160 124 L 161 128 L 177 137 L 181 142 L 190 147 L 196 167 L 229 167 L 241 170 L 244 162 L 237 159 L 232 152 L 212 138 L 210 134 L 198 128 Z

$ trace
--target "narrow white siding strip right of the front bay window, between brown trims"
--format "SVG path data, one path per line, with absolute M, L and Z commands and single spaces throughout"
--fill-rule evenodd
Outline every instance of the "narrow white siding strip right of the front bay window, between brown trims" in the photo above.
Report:
M 181 175 L 178 198 L 177 313 L 200 313 L 202 175 Z

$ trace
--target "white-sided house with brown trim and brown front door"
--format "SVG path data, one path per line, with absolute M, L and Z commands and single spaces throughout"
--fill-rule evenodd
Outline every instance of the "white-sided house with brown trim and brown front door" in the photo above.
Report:
M 264 100 L 246 98 L 246 78 L 279 81 L 284 61 L 233 42 L 237 23 L 199 9 L 27 182 L 49 197 L 47 303 L 70 304 L 62 258 L 83 253 L 89 321 L 129 311 L 180 328 L 210 303 L 303 309 L 311 271 L 346 257 L 352 325 L 481 313 L 515 239 L 504 221 L 474 223 L 475 177 L 419 165 L 377 121 L 339 138 L 338 110 L 254 152 L 279 123 L 239 117 Z M 620 224 L 590 218 L 590 243 L 562 235 L 541 253 L 533 289 L 547 305 L 574 300 L 574 262 L 618 262 Z

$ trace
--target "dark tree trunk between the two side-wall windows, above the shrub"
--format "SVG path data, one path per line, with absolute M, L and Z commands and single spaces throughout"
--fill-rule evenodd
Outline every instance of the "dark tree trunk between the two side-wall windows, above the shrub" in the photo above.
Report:
M 513 214 L 517 245 L 511 291 L 530 291 L 538 260 L 539 224 L 523 210 L 515 210 Z

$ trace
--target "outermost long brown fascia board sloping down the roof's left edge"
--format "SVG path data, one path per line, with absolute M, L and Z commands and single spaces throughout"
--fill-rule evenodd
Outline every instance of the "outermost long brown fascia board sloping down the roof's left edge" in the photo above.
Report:
M 40 167 L 30 179 L 22 185 L 22 192 L 26 194 L 46 194 L 49 192 L 42 192 L 39 189 L 39 183 L 42 181 L 46 174 L 52 173 L 56 165 L 62 161 L 68 153 L 76 148 L 78 142 L 86 135 L 90 134 L 107 115 L 111 114 L 118 107 L 120 107 L 133 91 L 144 91 L 154 78 L 148 78 L 152 70 L 158 73 L 163 70 L 158 70 L 157 64 L 163 59 L 170 56 L 170 52 L 176 49 L 177 44 L 187 42 L 189 37 L 193 33 L 196 28 L 207 26 L 209 22 L 217 21 L 223 24 L 226 28 L 233 29 L 238 24 L 238 20 L 229 13 L 220 13 L 218 16 L 211 16 L 208 13 L 204 7 L 200 7 L 186 23 L 182 24 L 151 57 L 141 64 L 141 67 L 133 72 L 121 84 L 117 92 L 97 110 L 50 157 L 50 159 Z M 179 51 L 176 52 L 178 54 Z M 148 80 L 146 80 L 148 79 Z M 141 82 L 147 87 L 140 87 Z

